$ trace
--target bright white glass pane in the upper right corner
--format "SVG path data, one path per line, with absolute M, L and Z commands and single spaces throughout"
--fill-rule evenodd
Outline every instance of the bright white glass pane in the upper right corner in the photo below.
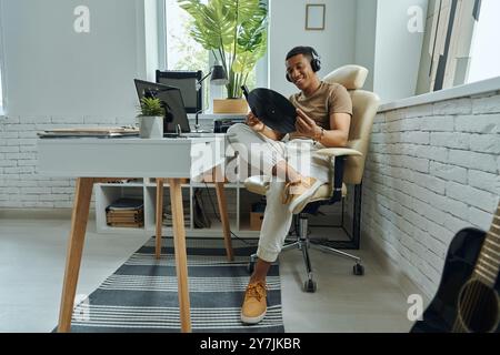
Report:
M 479 22 L 472 39 L 471 62 L 467 82 L 500 77 L 500 1 L 482 0 Z

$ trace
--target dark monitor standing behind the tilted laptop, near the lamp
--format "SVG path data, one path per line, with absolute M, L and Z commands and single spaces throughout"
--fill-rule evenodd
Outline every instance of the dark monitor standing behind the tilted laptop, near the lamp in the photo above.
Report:
M 202 72 L 183 70 L 157 70 L 157 83 L 179 88 L 188 113 L 197 113 L 202 109 L 202 90 L 198 90 L 198 82 Z

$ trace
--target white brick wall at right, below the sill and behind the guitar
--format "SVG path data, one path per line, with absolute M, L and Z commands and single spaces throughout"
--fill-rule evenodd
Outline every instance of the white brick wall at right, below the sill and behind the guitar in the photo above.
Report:
M 500 196 L 500 92 L 379 113 L 363 182 L 362 237 L 427 295 L 462 227 L 488 230 Z

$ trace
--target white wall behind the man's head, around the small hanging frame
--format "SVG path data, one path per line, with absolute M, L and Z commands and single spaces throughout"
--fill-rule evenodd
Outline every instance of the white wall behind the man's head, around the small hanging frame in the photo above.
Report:
M 323 0 L 327 6 L 323 31 L 306 31 L 307 0 L 270 0 L 270 89 L 288 97 L 298 89 L 284 79 L 284 58 L 296 45 L 311 45 L 321 55 L 324 77 L 354 60 L 356 1 Z

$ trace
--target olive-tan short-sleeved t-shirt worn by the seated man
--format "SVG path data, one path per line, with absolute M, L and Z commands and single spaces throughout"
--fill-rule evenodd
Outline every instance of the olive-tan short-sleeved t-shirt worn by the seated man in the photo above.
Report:
M 302 92 L 290 97 L 290 102 L 298 109 L 301 109 L 309 118 L 316 121 L 316 124 L 326 130 L 330 128 L 330 114 L 348 113 L 352 116 L 352 101 L 344 87 L 338 83 L 326 83 L 321 81 L 318 90 L 310 97 Z M 290 133 L 290 139 L 301 136 L 299 133 Z

